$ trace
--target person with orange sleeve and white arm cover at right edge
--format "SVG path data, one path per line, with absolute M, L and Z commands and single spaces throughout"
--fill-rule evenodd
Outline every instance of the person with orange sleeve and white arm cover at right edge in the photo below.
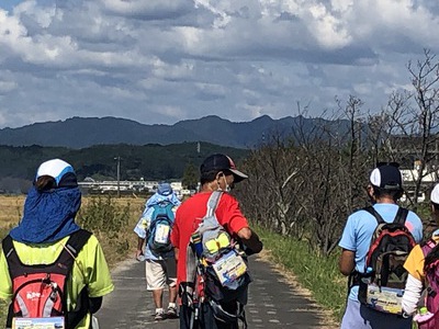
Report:
M 431 190 L 430 206 L 431 217 L 436 223 L 436 230 L 426 242 L 416 245 L 415 248 L 413 248 L 404 264 L 404 268 L 408 272 L 408 279 L 403 296 L 403 309 L 408 315 L 415 315 L 417 310 L 419 311 L 418 305 L 426 304 L 423 306 L 427 307 L 429 314 L 435 315 L 429 317 L 424 324 L 419 324 L 419 328 L 423 329 L 439 328 L 439 303 L 438 299 L 435 298 L 435 295 L 439 293 L 439 291 L 437 291 L 438 287 L 429 283 L 428 288 L 430 292 L 427 294 L 427 303 L 425 303 L 426 300 L 420 300 L 425 298 L 421 297 L 421 295 L 427 287 L 426 284 L 430 279 L 429 275 L 432 274 L 432 279 L 435 279 L 436 282 L 439 280 L 439 277 L 431 272 L 431 270 L 436 269 L 435 262 L 439 259 L 439 247 L 436 247 L 439 242 L 439 184 L 436 184 Z

